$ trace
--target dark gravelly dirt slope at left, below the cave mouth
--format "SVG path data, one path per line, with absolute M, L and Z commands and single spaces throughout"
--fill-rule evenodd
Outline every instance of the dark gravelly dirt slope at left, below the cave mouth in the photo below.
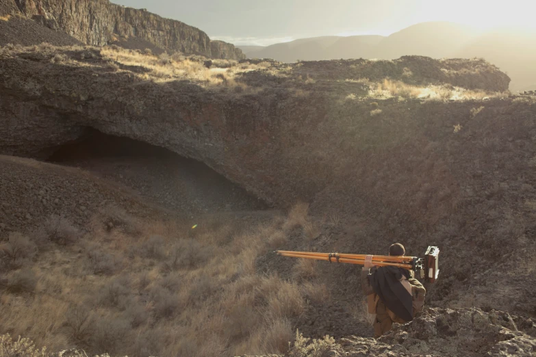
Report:
M 159 207 L 142 202 L 131 191 L 76 168 L 3 155 L 0 168 L 2 238 L 36 228 L 53 214 L 86 226 L 92 214 L 110 204 L 142 217 L 162 215 Z

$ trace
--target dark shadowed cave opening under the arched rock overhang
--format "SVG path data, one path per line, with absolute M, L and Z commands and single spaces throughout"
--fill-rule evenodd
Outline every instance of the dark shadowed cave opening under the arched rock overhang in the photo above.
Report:
M 55 148 L 47 161 L 88 170 L 175 211 L 216 213 L 268 208 L 205 163 L 96 129 L 88 129 L 75 142 Z

